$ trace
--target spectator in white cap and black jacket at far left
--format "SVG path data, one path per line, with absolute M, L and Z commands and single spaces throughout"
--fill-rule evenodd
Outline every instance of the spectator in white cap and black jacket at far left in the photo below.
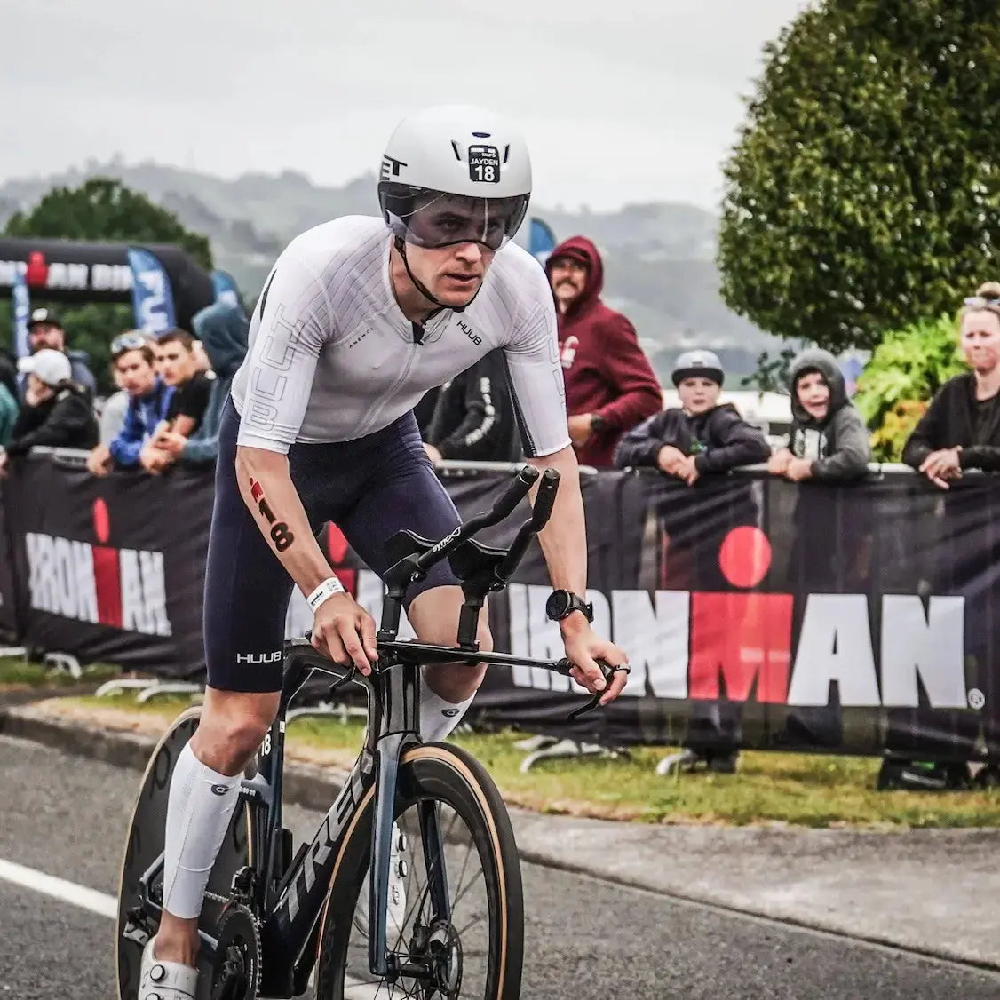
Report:
M 69 358 L 62 351 L 43 347 L 21 358 L 18 368 L 27 376 L 24 403 L 14 423 L 0 469 L 8 459 L 26 455 L 32 448 L 90 449 L 97 443 L 97 420 L 87 393 L 72 380 Z

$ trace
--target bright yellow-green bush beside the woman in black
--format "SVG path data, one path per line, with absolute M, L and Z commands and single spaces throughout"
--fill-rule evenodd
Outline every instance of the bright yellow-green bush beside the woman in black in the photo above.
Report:
M 911 323 L 884 337 L 865 365 L 854 396 L 872 431 L 874 456 L 898 462 L 930 399 L 948 379 L 966 370 L 953 316 Z

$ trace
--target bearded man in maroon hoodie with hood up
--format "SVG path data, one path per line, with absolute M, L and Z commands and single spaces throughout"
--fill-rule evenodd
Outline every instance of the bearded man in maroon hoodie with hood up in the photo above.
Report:
M 600 299 L 604 265 L 590 240 L 560 243 L 545 270 L 559 314 L 569 436 L 581 465 L 610 468 L 622 434 L 663 409 L 660 383 L 635 328 Z

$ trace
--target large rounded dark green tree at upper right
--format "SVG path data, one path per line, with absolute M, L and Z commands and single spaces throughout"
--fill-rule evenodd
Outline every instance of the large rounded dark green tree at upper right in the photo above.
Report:
M 874 347 L 992 277 L 996 0 L 824 0 L 764 61 L 724 167 L 731 308 L 783 337 Z

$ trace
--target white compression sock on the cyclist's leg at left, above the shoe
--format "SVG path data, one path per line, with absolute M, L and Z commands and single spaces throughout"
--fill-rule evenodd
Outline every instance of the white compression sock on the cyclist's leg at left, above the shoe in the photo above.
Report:
M 167 799 L 163 908 L 175 917 L 201 914 L 215 858 L 239 801 L 240 775 L 206 767 L 188 743 L 177 758 Z

